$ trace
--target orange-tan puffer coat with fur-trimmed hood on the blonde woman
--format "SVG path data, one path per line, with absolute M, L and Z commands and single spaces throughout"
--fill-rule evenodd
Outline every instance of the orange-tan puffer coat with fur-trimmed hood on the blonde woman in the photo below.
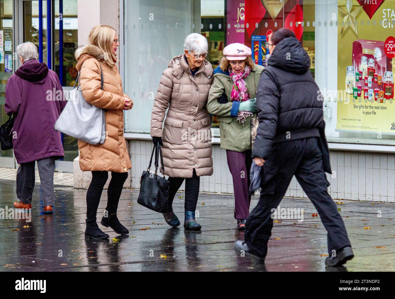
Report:
M 103 58 L 103 52 L 93 45 L 75 51 L 75 59 L 78 61 L 76 68 L 81 72 L 82 94 L 88 103 L 105 109 L 107 135 L 105 142 L 99 145 L 78 140 L 79 166 L 82 171 L 127 172 L 132 164 L 123 136 L 122 109 L 125 105 L 123 97 L 128 96 L 123 93 L 117 66 L 110 67 Z M 103 70 L 103 90 L 100 89 L 100 64 Z

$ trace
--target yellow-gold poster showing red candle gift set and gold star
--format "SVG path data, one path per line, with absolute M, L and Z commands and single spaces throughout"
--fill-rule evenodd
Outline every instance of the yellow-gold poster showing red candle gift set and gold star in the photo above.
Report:
M 336 131 L 395 135 L 393 3 L 338 2 Z

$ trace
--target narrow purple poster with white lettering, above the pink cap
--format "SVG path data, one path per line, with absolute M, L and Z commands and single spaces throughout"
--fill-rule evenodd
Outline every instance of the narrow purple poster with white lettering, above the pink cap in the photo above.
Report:
M 226 7 L 226 45 L 244 43 L 244 0 L 228 0 Z

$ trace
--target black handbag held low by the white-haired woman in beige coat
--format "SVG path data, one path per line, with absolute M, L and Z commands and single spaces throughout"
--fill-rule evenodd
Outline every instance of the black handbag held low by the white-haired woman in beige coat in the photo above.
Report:
M 152 156 L 155 151 L 155 174 L 150 173 Z M 158 176 L 158 154 L 160 153 L 160 163 L 163 171 L 163 178 Z M 165 168 L 163 166 L 162 148 L 159 142 L 152 149 L 151 159 L 147 171 L 141 175 L 140 194 L 137 203 L 158 213 L 166 213 L 169 207 L 169 187 L 170 182 L 165 178 Z

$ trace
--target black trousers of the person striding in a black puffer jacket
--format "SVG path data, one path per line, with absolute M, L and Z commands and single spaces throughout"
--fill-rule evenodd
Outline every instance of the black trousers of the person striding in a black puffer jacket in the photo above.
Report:
M 329 256 L 332 250 L 350 246 L 342 217 L 327 192 L 329 182 L 317 141 L 317 137 L 311 137 L 276 143 L 263 164 L 261 196 L 247 219 L 245 231 L 245 242 L 258 256 L 267 254 L 267 242 L 273 228 L 271 209 L 280 204 L 293 175 L 314 204 L 327 230 Z

